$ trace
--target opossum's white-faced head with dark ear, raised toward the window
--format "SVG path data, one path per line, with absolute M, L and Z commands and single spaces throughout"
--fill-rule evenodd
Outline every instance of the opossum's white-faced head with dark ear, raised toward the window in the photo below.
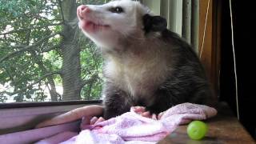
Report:
M 77 10 L 79 26 L 98 46 L 113 49 L 120 39 L 145 38 L 166 29 L 166 20 L 151 16 L 139 2 L 116 0 L 104 5 L 82 5 Z

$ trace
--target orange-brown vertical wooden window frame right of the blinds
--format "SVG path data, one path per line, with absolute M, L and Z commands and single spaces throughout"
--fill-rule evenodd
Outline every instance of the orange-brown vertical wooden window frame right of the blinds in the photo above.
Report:
M 205 67 L 206 76 L 214 90 L 219 94 L 220 46 L 221 46 L 221 0 L 209 0 L 208 18 L 201 62 Z M 202 50 L 202 40 L 206 21 L 208 1 L 199 1 L 199 55 Z

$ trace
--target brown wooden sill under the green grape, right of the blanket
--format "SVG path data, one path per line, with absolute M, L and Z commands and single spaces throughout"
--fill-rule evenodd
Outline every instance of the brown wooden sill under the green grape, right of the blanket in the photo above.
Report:
M 206 121 L 208 133 L 200 141 L 194 141 L 186 134 L 186 126 L 178 126 L 178 129 L 168 135 L 160 144 L 167 143 L 255 143 L 254 139 L 238 122 L 238 118 L 231 113 L 226 103 L 218 106 L 218 115 Z

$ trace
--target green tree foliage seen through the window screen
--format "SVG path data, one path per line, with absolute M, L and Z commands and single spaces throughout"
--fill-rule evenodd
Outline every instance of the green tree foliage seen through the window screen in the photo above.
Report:
M 82 3 L 104 2 L 0 1 L 0 102 L 100 98 L 102 58 L 74 14 Z

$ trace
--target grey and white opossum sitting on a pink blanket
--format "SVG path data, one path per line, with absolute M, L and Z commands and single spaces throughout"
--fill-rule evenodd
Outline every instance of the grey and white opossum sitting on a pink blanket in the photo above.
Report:
M 131 0 L 78 6 L 78 25 L 105 58 L 104 118 L 145 106 L 159 114 L 183 102 L 214 102 L 197 54 L 166 19 Z

